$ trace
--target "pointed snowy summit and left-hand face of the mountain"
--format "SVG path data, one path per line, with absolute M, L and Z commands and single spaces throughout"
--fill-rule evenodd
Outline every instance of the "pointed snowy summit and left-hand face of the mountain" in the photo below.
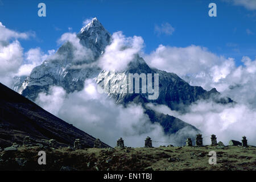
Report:
M 14 90 L 34 101 L 40 92 L 48 92 L 49 86 L 63 87 L 67 93 L 84 88 L 86 78 L 94 78 L 101 69 L 93 65 L 110 43 L 111 35 L 94 18 L 77 34 L 80 44 L 92 51 L 92 59 L 76 61 L 76 47 L 65 42 L 56 54 L 43 64 L 35 67 L 30 76 L 16 78 Z

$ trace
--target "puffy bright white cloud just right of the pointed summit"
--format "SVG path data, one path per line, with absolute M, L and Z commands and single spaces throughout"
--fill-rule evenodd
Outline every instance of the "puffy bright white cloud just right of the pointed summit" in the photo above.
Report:
M 112 43 L 105 48 L 104 55 L 99 59 L 100 67 L 108 71 L 123 71 L 135 54 L 141 51 L 143 43 L 139 36 L 126 38 L 122 32 L 115 32 Z

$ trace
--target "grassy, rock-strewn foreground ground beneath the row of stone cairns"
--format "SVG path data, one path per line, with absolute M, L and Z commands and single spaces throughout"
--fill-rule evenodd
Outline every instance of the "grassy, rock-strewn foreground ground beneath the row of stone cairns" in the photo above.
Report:
M 38 152 L 46 152 L 46 165 Z M 210 165 L 209 151 L 217 164 Z M 256 170 L 256 147 L 50 148 L 15 146 L 0 152 L 0 170 Z

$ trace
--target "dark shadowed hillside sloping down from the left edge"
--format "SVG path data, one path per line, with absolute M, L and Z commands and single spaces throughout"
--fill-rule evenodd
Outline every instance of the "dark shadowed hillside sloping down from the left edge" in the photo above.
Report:
M 0 146 L 22 144 L 29 136 L 37 143 L 55 139 L 60 146 L 73 146 L 80 139 L 85 147 L 93 147 L 95 138 L 55 117 L 34 102 L 0 84 Z M 102 147 L 109 147 L 102 143 Z

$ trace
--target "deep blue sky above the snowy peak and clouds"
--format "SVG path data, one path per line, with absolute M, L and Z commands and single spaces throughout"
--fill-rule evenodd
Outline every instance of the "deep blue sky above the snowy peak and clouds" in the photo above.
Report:
M 256 9 L 236 6 L 236 0 L 223 1 L 35 1 L 1 0 L 0 22 L 19 32 L 32 31 L 35 37 L 20 40 L 24 51 L 40 47 L 57 49 L 56 40 L 68 27 L 79 32 L 82 22 L 97 17 L 110 33 L 123 31 L 126 36 L 142 36 L 144 51 L 150 53 L 159 44 L 207 47 L 225 57 L 234 57 L 237 65 L 242 56 L 254 59 L 256 52 Z M 243 1 L 243 0 L 242 0 Z M 38 16 L 38 4 L 46 3 L 46 17 Z M 208 5 L 217 5 L 217 17 L 208 16 Z M 168 24 L 172 34 L 161 34 L 156 27 Z

